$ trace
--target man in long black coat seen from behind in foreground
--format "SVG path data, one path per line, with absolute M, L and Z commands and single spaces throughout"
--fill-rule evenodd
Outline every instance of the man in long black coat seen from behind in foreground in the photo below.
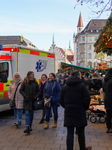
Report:
M 74 127 L 77 128 L 80 150 L 91 150 L 90 146 L 85 147 L 84 134 L 90 95 L 82 83 L 79 71 L 72 72 L 72 76 L 62 88 L 59 101 L 61 106 L 65 108 L 64 126 L 67 127 L 67 150 L 73 150 Z

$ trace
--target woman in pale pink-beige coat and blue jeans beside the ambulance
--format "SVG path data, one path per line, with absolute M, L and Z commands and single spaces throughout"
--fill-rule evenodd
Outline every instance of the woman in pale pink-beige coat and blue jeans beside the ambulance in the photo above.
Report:
M 14 73 L 13 80 L 11 81 L 8 89 L 8 97 L 10 100 L 15 100 L 14 116 L 16 127 L 21 125 L 22 113 L 23 113 L 23 96 L 20 94 L 19 90 L 22 84 L 22 79 L 18 72 Z

